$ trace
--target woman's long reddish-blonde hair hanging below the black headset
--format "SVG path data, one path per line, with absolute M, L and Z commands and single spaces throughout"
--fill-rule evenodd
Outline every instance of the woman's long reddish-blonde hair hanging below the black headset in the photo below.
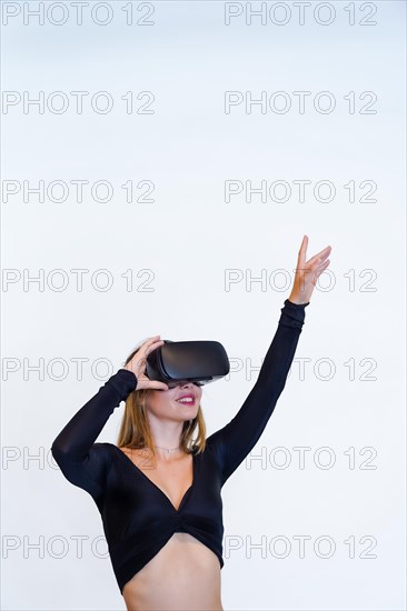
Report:
M 139 351 L 141 342 L 126 359 L 125 365 L 131 361 Z M 151 434 L 150 422 L 147 414 L 148 399 L 151 394 L 150 389 L 135 390 L 126 399 L 126 408 L 121 420 L 117 444 L 119 448 L 141 449 L 147 448 L 156 460 L 157 453 L 155 440 Z M 196 439 L 192 439 L 197 430 Z M 180 438 L 180 448 L 188 454 L 199 454 L 206 447 L 206 425 L 201 403 L 198 407 L 198 413 L 192 420 L 187 420 L 182 424 Z

